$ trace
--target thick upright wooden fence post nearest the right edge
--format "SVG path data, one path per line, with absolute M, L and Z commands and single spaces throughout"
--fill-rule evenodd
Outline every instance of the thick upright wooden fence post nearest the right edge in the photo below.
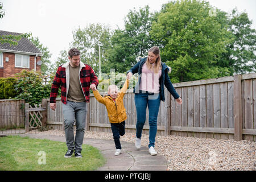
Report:
M 242 140 L 242 76 L 234 76 L 234 139 Z

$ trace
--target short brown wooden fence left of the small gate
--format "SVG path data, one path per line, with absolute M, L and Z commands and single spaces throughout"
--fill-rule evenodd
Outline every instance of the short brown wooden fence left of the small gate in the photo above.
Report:
M 0 100 L 0 134 L 25 132 L 24 105 L 24 100 Z

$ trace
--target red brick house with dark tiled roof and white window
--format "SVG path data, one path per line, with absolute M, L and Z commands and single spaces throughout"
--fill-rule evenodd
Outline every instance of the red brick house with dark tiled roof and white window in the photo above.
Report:
M 20 34 L 0 30 L 1 35 Z M 14 77 L 23 69 L 40 71 L 41 56 L 42 52 L 27 38 L 20 39 L 17 46 L 0 43 L 0 77 Z

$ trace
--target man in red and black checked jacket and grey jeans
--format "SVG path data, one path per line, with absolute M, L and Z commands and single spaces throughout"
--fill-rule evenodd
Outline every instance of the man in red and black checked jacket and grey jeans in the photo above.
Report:
M 65 158 L 71 158 L 74 150 L 75 157 L 81 158 L 82 142 L 86 122 L 87 102 L 89 102 L 90 88 L 98 85 L 98 78 L 92 67 L 80 61 L 80 51 L 72 48 L 68 51 L 69 62 L 57 69 L 52 82 L 50 107 L 56 109 L 56 97 L 61 87 L 61 101 L 63 102 L 63 117 L 65 137 L 68 151 Z M 73 123 L 76 121 L 76 137 L 74 141 Z

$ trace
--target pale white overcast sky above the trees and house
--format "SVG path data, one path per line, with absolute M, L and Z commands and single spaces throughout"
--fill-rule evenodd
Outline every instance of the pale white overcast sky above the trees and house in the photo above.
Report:
M 68 49 L 72 31 L 88 23 L 108 24 L 113 29 L 123 28 L 123 18 L 134 7 L 150 6 L 151 12 L 159 11 L 169 0 L 0 0 L 5 16 L 0 19 L 0 30 L 31 32 L 47 46 L 55 61 L 61 50 Z M 226 12 L 234 7 L 253 20 L 256 29 L 255 0 L 208 0 L 210 5 Z

